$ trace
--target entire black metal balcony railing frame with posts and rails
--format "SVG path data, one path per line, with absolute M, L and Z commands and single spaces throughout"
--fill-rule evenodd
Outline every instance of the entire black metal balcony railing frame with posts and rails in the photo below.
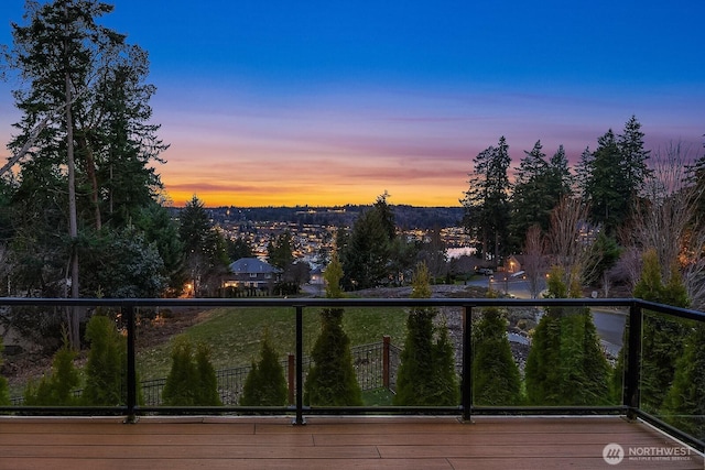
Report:
M 127 331 L 127 403 L 115 407 L 47 407 L 47 406 L 3 406 L 0 413 L 28 414 L 97 414 L 97 415 L 124 415 L 128 420 L 135 420 L 140 415 L 148 414 L 270 414 L 270 415 L 293 415 L 294 424 L 304 424 L 304 415 L 327 414 L 445 414 L 459 415 L 463 419 L 469 420 L 473 415 L 492 414 L 560 414 L 560 415 L 585 415 L 585 414 L 619 414 L 631 419 L 642 419 L 651 425 L 664 430 L 673 437 L 693 446 L 698 451 L 705 451 L 705 444 L 699 436 L 693 436 L 672 424 L 665 423 L 652 413 L 648 413 L 641 407 L 641 363 L 642 363 L 642 341 L 643 341 L 643 319 L 644 310 L 663 315 L 668 318 L 705 321 L 705 314 L 692 309 L 671 307 L 654 304 L 634 298 L 610 298 L 610 299 L 513 299 L 513 298 L 239 298 L 239 299 L 106 299 L 106 298 L 79 298 L 79 299 L 57 299 L 57 298 L 0 298 L 0 308 L 8 307 L 107 307 L 120 310 L 122 321 Z M 138 308 L 156 307 L 189 307 L 189 308 L 225 308 L 225 307 L 288 307 L 291 308 L 293 325 L 295 328 L 295 352 L 293 354 L 294 370 L 293 382 L 295 383 L 293 405 L 284 407 L 245 407 L 237 405 L 224 405 L 217 407 L 169 407 L 154 405 L 140 405 L 138 403 L 138 380 L 135 367 L 135 311 Z M 318 311 L 326 307 L 356 307 L 356 308 L 389 308 L 389 307 L 453 307 L 462 311 L 460 341 L 460 403 L 457 406 L 356 406 L 356 407 L 323 407 L 304 405 L 304 323 L 303 314 L 305 309 Z M 614 406 L 478 406 L 473 402 L 473 378 L 471 378 L 471 317 L 474 310 L 485 307 L 619 307 L 628 309 L 628 343 L 625 358 L 623 397 L 620 404 Z M 705 371 L 703 371 L 705 373 Z M 386 384 L 388 386 L 388 384 Z M 705 391 L 699 391 L 704 394 Z M 702 400 L 702 397 L 701 397 Z M 699 417 L 705 419 L 705 417 Z

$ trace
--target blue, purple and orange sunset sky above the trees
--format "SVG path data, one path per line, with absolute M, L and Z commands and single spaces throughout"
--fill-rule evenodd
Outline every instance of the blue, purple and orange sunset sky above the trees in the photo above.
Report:
M 500 136 L 512 167 L 538 140 L 577 162 L 632 114 L 654 154 L 703 154 L 702 0 L 109 3 L 102 24 L 150 53 L 175 206 L 458 206 Z M 0 2 L 0 43 L 23 11 Z

